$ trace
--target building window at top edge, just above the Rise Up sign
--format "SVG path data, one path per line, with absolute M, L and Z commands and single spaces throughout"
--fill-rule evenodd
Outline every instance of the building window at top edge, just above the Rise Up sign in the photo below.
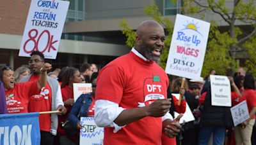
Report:
M 180 13 L 180 7 L 182 5 L 181 0 L 173 2 L 173 0 L 164 0 L 163 15 L 176 15 Z

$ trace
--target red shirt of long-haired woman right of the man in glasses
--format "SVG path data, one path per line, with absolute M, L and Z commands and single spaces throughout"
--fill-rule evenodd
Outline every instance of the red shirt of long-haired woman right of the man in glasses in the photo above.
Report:
M 65 102 L 68 99 L 74 99 L 74 93 L 73 93 L 73 88 L 70 88 L 70 86 L 64 86 L 63 88 L 61 88 L 61 94 L 62 94 L 62 100 L 63 102 Z M 67 120 L 68 118 L 68 114 L 70 113 L 72 106 L 65 106 L 67 109 L 67 113 L 64 115 L 60 115 L 58 116 L 58 122 L 59 125 L 62 121 Z M 66 135 L 67 133 L 65 132 L 65 130 L 61 127 L 58 127 L 58 135 Z

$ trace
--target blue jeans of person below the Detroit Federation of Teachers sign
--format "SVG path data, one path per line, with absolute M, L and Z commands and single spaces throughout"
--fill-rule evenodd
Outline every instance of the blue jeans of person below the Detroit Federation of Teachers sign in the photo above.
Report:
M 201 127 L 198 145 L 207 145 L 212 134 L 212 145 L 222 145 L 225 139 L 225 127 Z

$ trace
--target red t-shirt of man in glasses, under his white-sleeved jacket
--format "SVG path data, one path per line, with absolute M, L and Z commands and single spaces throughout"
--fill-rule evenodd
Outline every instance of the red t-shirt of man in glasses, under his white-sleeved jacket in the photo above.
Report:
M 37 81 L 39 75 L 32 75 L 29 81 Z M 51 86 L 47 82 L 47 85 L 43 87 L 40 93 L 31 95 L 28 104 L 29 112 L 42 112 L 51 111 L 52 104 L 52 91 Z M 40 114 L 39 115 L 40 130 L 45 132 L 51 131 L 51 114 Z

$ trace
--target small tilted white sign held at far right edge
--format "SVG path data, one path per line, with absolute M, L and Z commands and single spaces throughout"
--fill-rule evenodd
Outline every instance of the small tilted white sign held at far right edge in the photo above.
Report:
M 231 107 L 230 111 L 235 127 L 250 117 L 246 100 Z

